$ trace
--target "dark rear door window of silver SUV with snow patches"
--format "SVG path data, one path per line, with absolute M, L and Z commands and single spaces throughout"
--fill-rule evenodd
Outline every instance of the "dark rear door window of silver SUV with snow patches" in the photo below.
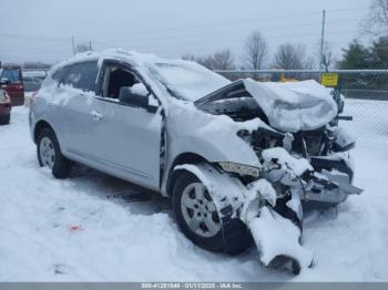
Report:
M 99 69 L 96 62 L 83 62 L 69 66 L 63 83 L 85 92 L 95 92 Z

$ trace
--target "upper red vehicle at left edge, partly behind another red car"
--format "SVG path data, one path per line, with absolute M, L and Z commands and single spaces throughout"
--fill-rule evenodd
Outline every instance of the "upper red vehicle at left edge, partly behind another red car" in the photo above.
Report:
M 12 106 L 24 104 L 24 84 L 20 66 L 3 66 L 0 69 L 1 87 L 11 97 Z

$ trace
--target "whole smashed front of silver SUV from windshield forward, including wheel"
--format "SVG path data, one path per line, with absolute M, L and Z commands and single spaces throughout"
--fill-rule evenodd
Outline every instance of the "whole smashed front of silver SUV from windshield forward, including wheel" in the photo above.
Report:
M 314 253 L 300 245 L 304 210 L 361 191 L 351 185 L 355 139 L 331 122 L 338 107 L 329 91 L 315 81 L 231 83 L 182 61 L 150 70 L 169 96 L 163 185 L 174 211 L 185 213 L 176 214 L 181 230 L 214 250 L 203 237 L 215 222 L 216 249 L 231 253 L 246 248 L 237 244 L 251 232 L 265 266 L 310 267 Z M 206 188 L 205 203 L 195 186 Z M 207 203 L 218 218 L 208 219 Z

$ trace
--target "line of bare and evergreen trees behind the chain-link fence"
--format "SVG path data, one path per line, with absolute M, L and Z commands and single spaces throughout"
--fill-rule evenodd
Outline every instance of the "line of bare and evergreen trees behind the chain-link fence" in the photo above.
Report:
M 238 64 L 229 49 L 202 56 L 185 54 L 182 59 L 196 61 L 211 70 L 388 69 L 388 0 L 372 0 L 360 25 L 363 34 L 372 37 L 374 41 L 365 46 L 354 40 L 343 49 L 339 60 L 334 56 L 328 42 L 324 43 L 323 53 L 317 48 L 316 58 L 308 55 L 306 45 L 300 43 L 280 44 L 270 58 L 268 44 L 258 30 L 245 40 Z

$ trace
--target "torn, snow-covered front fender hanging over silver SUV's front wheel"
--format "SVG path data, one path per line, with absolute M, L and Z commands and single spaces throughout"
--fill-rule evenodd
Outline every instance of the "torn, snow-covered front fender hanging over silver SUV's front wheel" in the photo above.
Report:
M 270 207 L 276 205 L 276 191 L 270 183 L 258 179 L 245 186 L 239 179 L 217 172 L 207 164 L 174 167 L 174 170 L 181 169 L 193 173 L 206 186 L 221 217 L 227 207 L 233 208 L 235 217 L 239 213 L 238 218 L 249 228 L 265 266 L 283 267 L 290 261 L 293 273 L 299 273 L 302 268 L 313 265 L 313 251 L 299 244 L 299 228 Z M 270 206 L 262 204 L 263 200 Z M 279 261 L 282 265 L 278 265 Z

